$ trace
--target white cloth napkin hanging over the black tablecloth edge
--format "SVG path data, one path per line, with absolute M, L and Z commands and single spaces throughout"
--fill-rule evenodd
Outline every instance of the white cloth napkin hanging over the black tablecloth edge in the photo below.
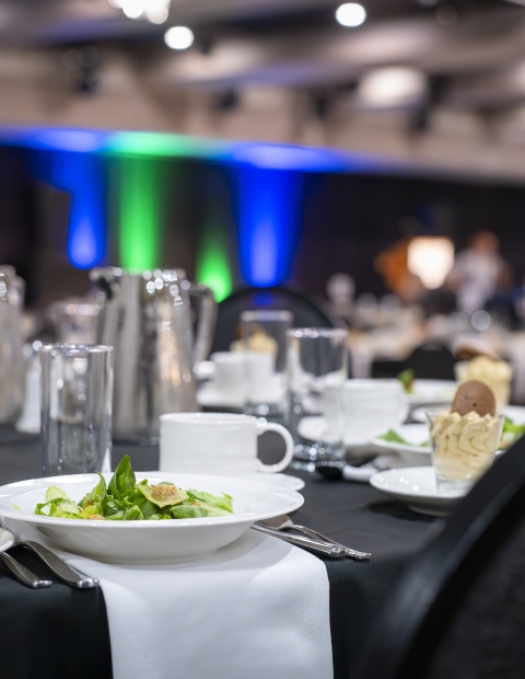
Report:
M 332 679 L 326 567 L 282 540 L 248 530 L 174 565 L 67 561 L 101 582 L 114 679 Z

